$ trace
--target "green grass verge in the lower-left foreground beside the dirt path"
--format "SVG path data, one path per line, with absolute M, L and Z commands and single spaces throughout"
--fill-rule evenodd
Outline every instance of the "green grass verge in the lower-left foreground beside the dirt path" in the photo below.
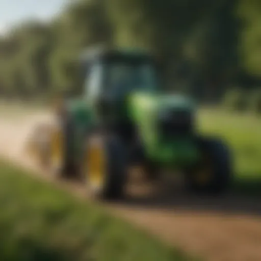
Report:
M 0 163 L 0 260 L 192 260 L 26 174 Z

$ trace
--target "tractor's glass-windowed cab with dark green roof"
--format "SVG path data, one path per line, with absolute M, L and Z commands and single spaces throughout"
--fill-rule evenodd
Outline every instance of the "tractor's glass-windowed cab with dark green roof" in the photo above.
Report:
M 134 91 L 154 92 L 157 86 L 155 62 L 138 51 L 103 50 L 85 59 L 85 96 L 91 103 L 103 99 L 117 103 Z

